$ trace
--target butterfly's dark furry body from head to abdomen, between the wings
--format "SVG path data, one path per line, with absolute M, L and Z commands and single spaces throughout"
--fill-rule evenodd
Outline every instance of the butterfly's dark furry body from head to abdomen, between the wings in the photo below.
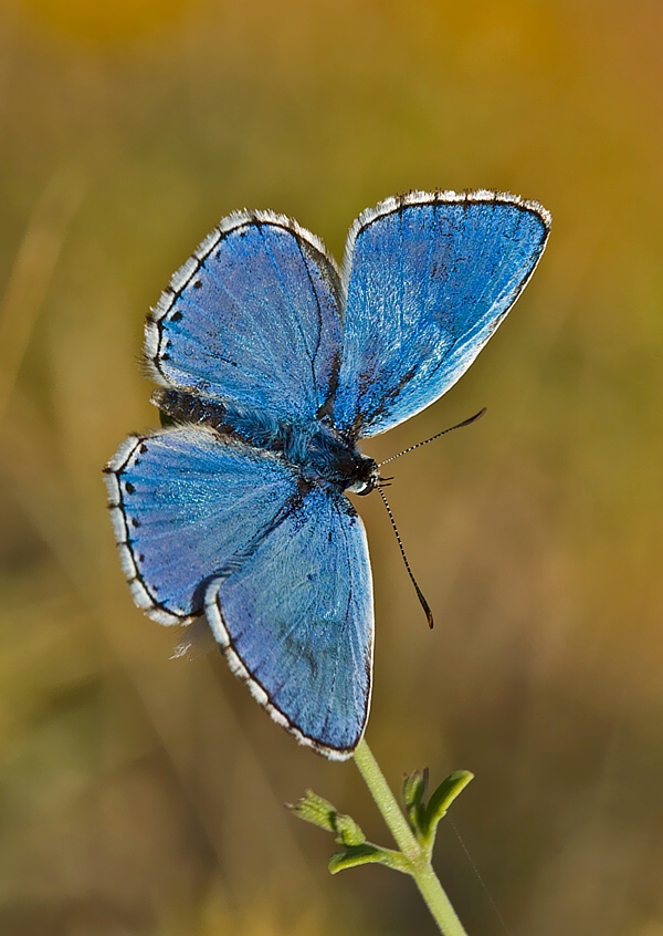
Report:
M 356 443 L 319 419 L 277 419 L 252 406 L 212 399 L 186 391 L 158 389 L 152 402 L 168 419 L 204 425 L 282 457 L 302 478 L 327 489 L 367 495 L 379 481 L 378 466 Z

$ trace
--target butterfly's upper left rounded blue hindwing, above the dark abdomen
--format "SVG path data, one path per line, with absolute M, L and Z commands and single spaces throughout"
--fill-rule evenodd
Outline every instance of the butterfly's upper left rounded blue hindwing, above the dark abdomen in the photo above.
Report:
M 148 316 L 164 386 L 312 419 L 336 384 L 340 283 L 318 238 L 270 211 L 225 218 Z

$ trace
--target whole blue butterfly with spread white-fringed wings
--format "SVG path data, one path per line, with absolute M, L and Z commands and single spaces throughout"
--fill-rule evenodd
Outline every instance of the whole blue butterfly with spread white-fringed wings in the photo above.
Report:
M 257 701 L 328 758 L 351 755 L 370 705 L 371 572 L 345 492 L 380 478 L 357 443 L 459 379 L 549 228 L 513 195 L 414 191 L 359 216 L 339 269 L 290 218 L 239 211 L 147 319 L 171 425 L 105 469 L 134 601 L 160 624 L 204 613 Z

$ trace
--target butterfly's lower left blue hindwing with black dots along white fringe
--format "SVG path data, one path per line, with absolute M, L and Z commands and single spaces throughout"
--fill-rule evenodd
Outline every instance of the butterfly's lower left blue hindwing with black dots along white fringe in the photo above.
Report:
M 203 427 L 131 436 L 106 467 L 115 537 L 134 601 L 161 624 L 203 611 L 297 492 L 291 468 Z

